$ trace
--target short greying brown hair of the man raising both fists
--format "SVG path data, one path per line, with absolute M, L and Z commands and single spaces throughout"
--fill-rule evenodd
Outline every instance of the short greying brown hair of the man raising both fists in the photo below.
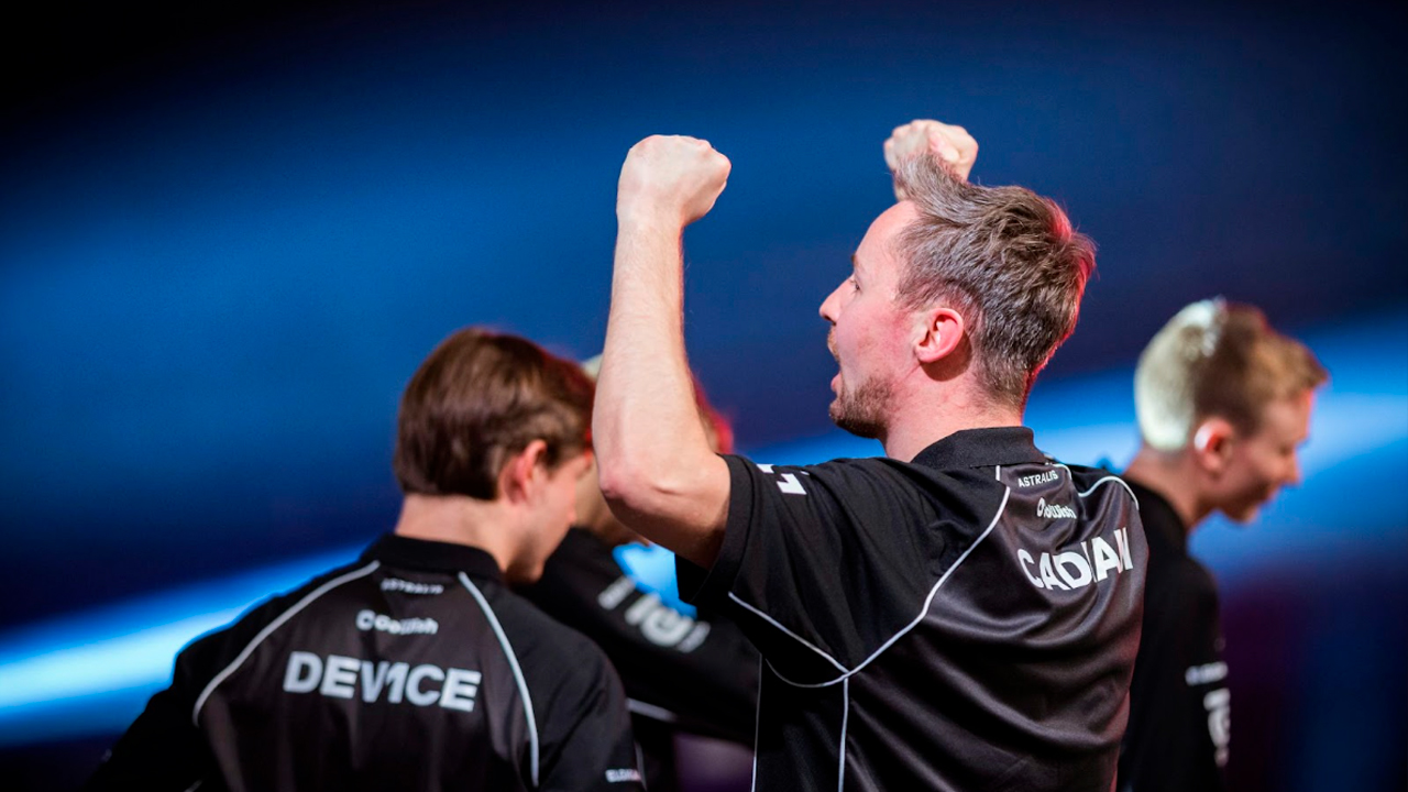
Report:
M 932 156 L 907 159 L 895 180 L 919 214 L 900 241 L 901 303 L 963 314 L 984 390 L 1022 407 L 1036 373 L 1076 330 L 1094 242 L 1050 199 L 972 185 Z

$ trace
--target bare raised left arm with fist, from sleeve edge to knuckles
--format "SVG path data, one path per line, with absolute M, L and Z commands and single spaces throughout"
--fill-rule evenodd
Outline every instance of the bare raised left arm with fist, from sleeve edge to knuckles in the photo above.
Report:
M 611 316 L 591 434 L 617 517 L 700 567 L 724 538 L 728 466 L 704 434 L 684 355 L 681 237 L 729 162 L 708 142 L 649 137 L 621 166 Z

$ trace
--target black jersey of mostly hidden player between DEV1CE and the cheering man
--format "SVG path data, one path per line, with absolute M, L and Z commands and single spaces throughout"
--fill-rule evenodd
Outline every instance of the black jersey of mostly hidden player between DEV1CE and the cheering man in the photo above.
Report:
M 542 578 L 520 593 L 611 658 L 653 792 L 679 786 L 677 733 L 752 744 L 758 650 L 736 624 L 707 610 L 687 616 L 642 590 L 611 548 L 582 528 L 567 533 Z

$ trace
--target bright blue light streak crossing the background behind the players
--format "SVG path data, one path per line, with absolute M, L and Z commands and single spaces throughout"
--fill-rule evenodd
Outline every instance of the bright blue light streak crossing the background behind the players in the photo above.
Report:
M 1239 575 L 1304 564 L 1352 565 L 1408 547 L 1401 485 L 1408 465 L 1408 316 L 1311 338 L 1333 380 L 1319 399 L 1302 452 L 1305 486 L 1284 493 L 1253 530 L 1200 528 L 1194 552 L 1232 585 Z M 1129 372 L 1043 386 L 1029 424 L 1045 451 L 1070 462 L 1117 468 L 1136 445 Z M 873 441 L 835 433 L 745 450 L 774 464 L 808 464 L 880 452 Z M 1343 489 L 1352 488 L 1346 505 Z M 321 552 L 221 581 L 156 592 L 0 634 L 0 745 L 124 729 L 170 679 L 176 652 L 273 592 L 355 558 L 360 548 Z M 618 552 L 621 564 L 680 606 L 673 557 L 652 547 Z M 687 606 L 686 606 L 687 607 Z

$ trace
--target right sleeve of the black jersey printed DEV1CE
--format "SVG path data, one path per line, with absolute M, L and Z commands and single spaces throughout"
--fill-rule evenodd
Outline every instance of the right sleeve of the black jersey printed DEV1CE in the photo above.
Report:
M 570 647 L 576 667 L 539 702 L 542 792 L 636 792 L 641 768 L 625 691 L 598 648 Z

